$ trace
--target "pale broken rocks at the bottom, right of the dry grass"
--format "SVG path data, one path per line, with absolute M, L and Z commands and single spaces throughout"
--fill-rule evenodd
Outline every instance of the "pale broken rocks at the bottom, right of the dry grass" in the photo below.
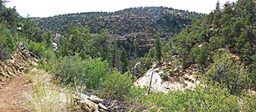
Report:
M 75 95 L 75 102 L 80 105 L 84 111 L 108 111 L 108 108 L 102 104 L 103 99 L 97 96 L 87 96 L 83 93 L 76 93 Z

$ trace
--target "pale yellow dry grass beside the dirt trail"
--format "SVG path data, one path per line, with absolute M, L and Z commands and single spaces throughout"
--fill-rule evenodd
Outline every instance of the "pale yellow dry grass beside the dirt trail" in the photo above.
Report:
M 51 83 L 52 75 L 40 69 L 32 69 L 25 75 L 31 82 L 32 91 L 28 93 L 28 103 L 25 105 L 29 111 L 52 112 L 71 111 L 69 102 L 72 101 L 69 93 L 61 92 L 57 86 Z

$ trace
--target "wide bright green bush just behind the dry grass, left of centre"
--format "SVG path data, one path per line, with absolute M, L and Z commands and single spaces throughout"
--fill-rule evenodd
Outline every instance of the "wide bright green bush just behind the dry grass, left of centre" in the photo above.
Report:
M 79 55 L 64 57 L 63 66 L 58 77 L 65 84 L 73 86 L 86 86 L 89 89 L 98 89 L 108 77 L 109 63 L 101 58 L 82 60 Z

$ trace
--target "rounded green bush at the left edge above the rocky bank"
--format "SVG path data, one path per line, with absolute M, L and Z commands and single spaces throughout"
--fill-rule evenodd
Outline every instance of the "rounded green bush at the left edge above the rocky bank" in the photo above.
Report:
M 16 49 L 14 37 L 2 23 L 0 23 L 0 49 L 1 58 L 10 57 Z

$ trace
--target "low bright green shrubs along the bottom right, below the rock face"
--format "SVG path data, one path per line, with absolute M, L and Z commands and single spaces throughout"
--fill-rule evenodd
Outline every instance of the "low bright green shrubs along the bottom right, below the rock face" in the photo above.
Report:
M 150 93 L 132 87 L 130 111 L 255 111 L 255 96 L 233 96 L 222 87 L 196 87 L 193 91 Z M 243 102 L 243 103 L 241 103 Z

